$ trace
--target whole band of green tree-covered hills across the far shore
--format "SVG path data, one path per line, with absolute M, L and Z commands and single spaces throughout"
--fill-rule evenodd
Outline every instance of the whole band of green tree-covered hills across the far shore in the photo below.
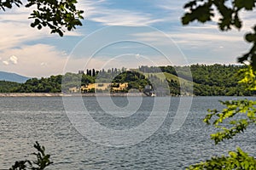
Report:
M 128 82 L 128 92 L 131 88 L 137 88 L 143 92 L 147 85 L 154 86 L 154 90 L 163 82 L 169 86 L 171 95 L 180 95 L 180 86 L 183 86 L 182 95 L 253 95 L 239 83 L 236 72 L 242 67 L 238 65 L 189 65 L 189 66 L 140 66 L 131 71 L 109 69 L 108 71 L 87 70 L 84 72 L 66 73 L 64 76 L 51 76 L 47 78 L 32 78 L 25 83 L 0 82 L 1 93 L 60 93 L 69 92 L 69 88 L 80 88 L 93 83 Z M 191 71 L 192 77 L 189 77 Z M 178 77 L 177 77 L 178 75 Z M 192 89 L 193 87 L 193 89 Z M 79 91 L 79 90 L 78 90 Z M 94 89 L 90 90 L 94 93 Z M 166 92 L 165 92 L 166 93 Z

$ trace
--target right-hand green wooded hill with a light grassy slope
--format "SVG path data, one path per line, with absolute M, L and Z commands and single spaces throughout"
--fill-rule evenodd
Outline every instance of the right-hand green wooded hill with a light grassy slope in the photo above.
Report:
M 189 66 L 160 66 L 148 67 L 140 66 L 138 71 L 145 74 L 154 74 L 160 79 L 163 72 L 170 85 L 171 94 L 179 94 L 180 83 L 183 87 L 191 91 L 193 82 L 193 94 L 198 96 L 212 95 L 253 95 L 255 92 L 246 90 L 238 81 L 241 79 L 237 75 L 244 66 L 241 65 L 189 65 Z M 160 68 L 160 70 L 159 70 Z M 178 77 L 177 77 L 178 75 Z M 192 75 L 192 77 L 190 76 Z

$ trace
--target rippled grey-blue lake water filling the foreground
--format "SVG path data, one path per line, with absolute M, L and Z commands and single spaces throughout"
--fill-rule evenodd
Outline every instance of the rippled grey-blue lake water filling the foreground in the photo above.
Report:
M 128 104 L 125 97 L 112 99 L 120 108 Z M 132 99 L 137 101 L 136 97 Z M 172 97 L 165 122 L 148 139 L 126 147 L 109 147 L 82 136 L 69 121 L 59 97 L 0 98 L 0 169 L 9 168 L 17 160 L 33 158 L 30 153 L 35 151 L 32 147 L 35 141 L 43 144 L 46 153 L 51 155 L 54 164 L 49 169 L 184 169 L 212 155 L 236 150 L 237 146 L 256 156 L 255 127 L 218 145 L 209 139 L 210 133 L 215 131 L 202 119 L 207 109 L 222 108 L 219 99 L 232 98 L 194 97 L 181 129 L 169 134 L 179 102 L 179 98 Z M 114 117 L 105 114 L 96 98 L 83 100 L 96 122 L 113 129 L 137 127 L 145 122 L 152 110 L 152 105 L 148 104 L 154 102 L 154 98 L 143 98 L 135 114 Z

